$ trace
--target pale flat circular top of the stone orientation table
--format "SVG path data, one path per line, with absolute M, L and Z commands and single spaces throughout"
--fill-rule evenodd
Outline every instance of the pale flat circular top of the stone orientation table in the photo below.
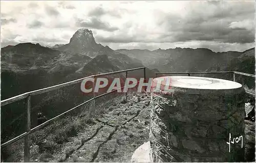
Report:
M 162 81 L 161 81 L 162 80 Z M 161 87 L 169 85 L 172 87 L 192 88 L 192 89 L 236 89 L 242 87 L 240 83 L 205 77 L 187 77 L 187 76 L 166 76 L 153 80 L 153 85 L 160 84 Z

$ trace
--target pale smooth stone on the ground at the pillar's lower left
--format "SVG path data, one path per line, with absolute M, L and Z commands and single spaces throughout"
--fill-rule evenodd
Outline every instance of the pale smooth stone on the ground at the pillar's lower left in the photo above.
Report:
M 135 150 L 131 162 L 150 162 L 150 141 Z

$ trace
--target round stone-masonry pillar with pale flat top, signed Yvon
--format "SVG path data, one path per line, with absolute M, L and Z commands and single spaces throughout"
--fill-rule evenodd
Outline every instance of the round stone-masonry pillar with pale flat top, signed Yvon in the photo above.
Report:
M 242 85 L 215 78 L 161 78 L 171 79 L 174 92 L 151 92 L 152 161 L 243 161 Z

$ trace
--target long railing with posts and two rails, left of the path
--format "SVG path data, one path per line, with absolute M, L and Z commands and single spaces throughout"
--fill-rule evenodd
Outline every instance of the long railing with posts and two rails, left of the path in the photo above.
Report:
M 91 75 L 91 76 L 88 76 L 88 77 L 84 77 L 84 78 L 80 78 L 80 79 L 77 79 L 77 80 L 73 80 L 73 81 L 70 81 L 70 82 L 66 82 L 66 83 L 62 83 L 62 84 L 58 84 L 58 85 L 54 85 L 54 86 L 50 86 L 50 87 L 47 87 L 47 88 L 42 88 L 42 89 L 38 89 L 38 90 L 33 90 L 33 91 L 30 91 L 30 92 L 26 92 L 25 94 L 21 94 L 21 95 L 18 95 L 18 96 L 15 96 L 15 97 L 12 97 L 12 98 L 9 98 L 9 99 L 6 99 L 6 100 L 3 100 L 1 101 L 1 106 L 5 106 L 7 104 L 10 104 L 10 103 L 13 103 L 13 102 L 16 102 L 18 100 L 22 100 L 22 99 L 26 99 L 26 108 L 27 108 L 27 111 L 26 111 L 26 114 L 25 114 L 25 118 L 26 118 L 26 121 L 27 121 L 27 127 L 26 127 L 26 132 L 24 132 L 23 134 L 20 134 L 12 139 L 10 139 L 9 141 L 7 141 L 6 143 L 3 143 L 1 144 L 1 147 L 5 147 L 9 144 L 12 144 L 16 141 L 18 141 L 19 139 L 25 137 L 25 142 L 24 142 L 24 161 L 25 162 L 29 162 L 29 159 L 30 159 L 30 134 L 41 129 L 42 127 L 48 125 L 49 123 L 53 122 L 55 119 L 61 117 L 62 115 L 78 108 L 79 106 L 82 106 L 83 104 L 86 104 L 90 101 L 93 100 L 93 109 L 95 109 L 95 99 L 99 98 L 99 97 L 102 97 L 102 96 L 105 96 L 107 94 L 110 94 L 111 92 L 114 92 L 114 91 L 117 91 L 116 90 L 112 90 L 110 92 L 106 92 L 105 94 L 102 94 L 102 95 L 99 95 L 97 97 L 95 97 L 95 94 L 93 93 L 93 98 L 86 101 L 86 102 L 83 102 L 75 107 L 73 107 L 72 109 L 69 109 L 68 111 L 65 111 L 59 115 L 57 115 L 56 117 L 46 121 L 45 123 L 42 123 L 41 125 L 38 125 L 34 128 L 31 129 L 31 96 L 35 96 L 35 95 L 39 95 L 39 94 L 42 94 L 42 93 L 45 93 L 45 92 L 49 92 L 49 91 L 52 91 L 52 90 L 56 90 L 56 89 L 59 89 L 59 88 L 62 88 L 62 87 L 66 87 L 66 86 L 69 86 L 69 85 L 74 85 L 74 84 L 77 84 L 77 83 L 80 83 L 83 79 L 86 79 L 86 78 L 97 78 L 97 77 L 101 77 L 101 76 L 106 76 L 106 75 L 113 75 L 113 74 L 119 74 L 119 73 L 124 73 L 125 72 L 125 77 L 127 78 L 127 74 L 128 72 L 130 71 L 135 71 L 135 70 L 138 70 L 138 69 L 144 69 L 143 73 L 144 73 L 144 80 L 146 79 L 146 72 L 145 72 L 145 67 L 138 67 L 138 68 L 132 68 L 132 69 L 125 69 L 125 70 L 122 70 L 122 71 L 116 71 L 116 72 L 110 72 L 110 73 L 104 73 L 104 74 L 97 74 L 97 75 Z M 94 88 L 94 83 L 93 82 L 93 88 Z M 126 86 L 123 86 L 121 88 L 124 88 Z M 119 89 L 121 89 L 119 88 Z M 126 99 L 127 99 L 127 93 L 126 93 Z

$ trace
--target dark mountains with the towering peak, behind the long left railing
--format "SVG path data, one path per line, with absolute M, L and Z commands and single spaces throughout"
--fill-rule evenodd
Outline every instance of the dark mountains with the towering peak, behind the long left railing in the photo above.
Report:
M 7 46 L 1 49 L 1 60 L 1 100 L 93 74 L 144 66 L 138 59 L 96 43 L 87 29 L 76 31 L 70 43 L 52 48 L 30 42 Z M 140 78 L 143 69 L 128 74 Z M 155 73 L 146 68 L 146 75 L 154 77 Z M 124 78 L 125 73 L 111 77 Z M 38 111 L 54 117 L 89 98 L 82 94 L 79 84 L 35 96 L 31 102 L 32 126 L 36 125 Z M 3 107 L 3 141 L 24 131 L 24 112 L 24 101 Z

